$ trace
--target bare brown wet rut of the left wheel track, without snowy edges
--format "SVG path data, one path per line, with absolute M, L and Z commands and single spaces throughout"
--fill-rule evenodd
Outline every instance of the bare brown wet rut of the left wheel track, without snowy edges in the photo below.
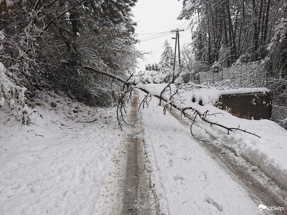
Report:
M 138 92 L 133 95 L 131 121 L 138 121 Z M 141 130 L 129 128 L 126 138 L 127 166 L 123 181 L 123 208 L 121 215 L 152 214 L 150 205 L 150 186 L 147 185 L 144 158 L 141 150 Z

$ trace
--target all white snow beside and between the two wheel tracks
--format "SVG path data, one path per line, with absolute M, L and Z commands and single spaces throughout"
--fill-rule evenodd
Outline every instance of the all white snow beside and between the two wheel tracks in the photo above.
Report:
M 163 85 L 148 85 L 162 89 Z M 140 101 L 145 93 L 140 92 Z M 114 108 L 93 108 L 53 92 L 43 92 L 35 101 L 38 112 L 29 115 L 32 123 L 21 126 L 0 109 L 0 214 L 113 214 L 119 211 L 120 185 L 125 167 L 124 143 L 129 130 L 121 131 Z M 179 97 L 178 97 L 179 98 Z M 200 111 L 221 112 L 206 102 L 185 105 Z M 189 100 L 188 100 L 189 99 Z M 168 111 L 163 115 L 159 100 L 140 109 L 137 127 L 143 141 L 150 194 L 160 214 L 265 214 L 192 138 Z M 39 114 L 38 114 L 39 113 Z M 257 165 L 267 176 L 286 185 L 287 133 L 269 120 L 245 120 L 222 111 L 216 118 L 227 131 L 198 120 L 217 142 Z M 43 116 L 43 119 L 40 117 Z M 93 121 L 83 123 L 79 121 Z M 126 131 L 125 131 L 126 130 Z M 198 134 L 196 134 L 198 135 Z M 200 138 L 200 136 L 198 136 Z M 201 138 L 204 135 L 201 136 Z M 232 162 L 232 161 L 231 161 Z M 286 200 L 286 199 L 285 199 Z M 277 205 L 280 206 L 280 205 Z M 281 205 L 283 206 L 283 205 Z M 117 209 L 113 209 L 117 207 Z

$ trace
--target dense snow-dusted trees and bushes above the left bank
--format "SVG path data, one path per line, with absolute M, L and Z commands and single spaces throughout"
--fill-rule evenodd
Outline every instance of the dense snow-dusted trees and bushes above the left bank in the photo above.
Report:
M 133 73 L 135 2 L 0 0 L 0 61 L 27 88 L 29 101 L 49 89 L 87 104 L 113 105 L 122 85 L 83 67 L 123 78 Z

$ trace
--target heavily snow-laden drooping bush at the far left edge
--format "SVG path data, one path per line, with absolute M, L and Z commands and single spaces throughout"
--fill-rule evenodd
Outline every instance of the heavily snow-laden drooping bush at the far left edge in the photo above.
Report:
M 0 62 L 0 108 L 8 108 L 7 112 L 10 116 L 21 121 L 25 125 L 27 118 L 28 107 L 26 104 L 25 87 L 17 86 L 8 76 L 11 73 L 6 72 L 6 68 Z

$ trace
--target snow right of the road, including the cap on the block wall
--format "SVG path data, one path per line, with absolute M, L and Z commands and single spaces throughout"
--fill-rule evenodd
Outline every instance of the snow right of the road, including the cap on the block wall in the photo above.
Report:
M 148 85 L 150 89 L 155 90 L 153 94 L 160 94 L 164 85 Z M 241 155 L 248 162 L 259 167 L 268 177 L 276 181 L 285 190 L 287 189 L 287 131 L 275 122 L 270 120 L 247 120 L 232 116 L 230 113 L 215 108 L 213 105 L 216 99 L 221 94 L 239 92 L 253 92 L 264 91 L 262 89 L 230 89 L 230 90 L 215 90 L 215 89 L 202 89 L 195 91 L 182 91 L 180 96 L 174 97 L 177 104 L 182 104 L 183 107 L 194 107 L 202 114 L 209 110 L 210 116 L 206 119 L 211 122 L 218 122 L 229 128 L 238 128 L 255 133 L 261 138 L 243 133 L 242 131 L 234 130 L 227 134 L 227 130 L 219 126 L 210 126 L 210 124 L 197 120 L 197 126 L 200 126 L 214 139 L 224 143 L 229 149 Z M 203 106 L 198 102 L 193 103 L 192 98 L 197 97 L 197 101 L 202 99 Z M 214 113 L 222 113 L 215 114 Z

